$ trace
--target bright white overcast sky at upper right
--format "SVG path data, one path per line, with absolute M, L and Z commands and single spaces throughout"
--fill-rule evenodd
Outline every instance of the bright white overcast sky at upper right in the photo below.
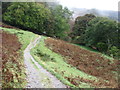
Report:
M 120 0 L 57 0 L 63 6 L 68 8 L 86 8 L 118 11 L 118 2 Z

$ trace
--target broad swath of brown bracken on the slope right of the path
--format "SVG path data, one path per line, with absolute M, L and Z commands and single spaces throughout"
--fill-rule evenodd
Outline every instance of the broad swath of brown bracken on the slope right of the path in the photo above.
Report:
M 65 77 L 74 85 L 79 85 L 78 80 L 82 82 L 92 83 L 93 86 L 117 88 L 118 80 L 117 75 L 112 71 L 118 70 L 118 60 L 113 60 L 113 63 L 101 54 L 80 48 L 79 46 L 72 45 L 62 40 L 47 38 L 45 40 L 46 46 L 52 51 L 61 54 L 66 59 L 65 61 L 76 67 L 77 69 L 96 76 L 99 81 L 86 80 L 80 77 Z M 107 80 L 108 82 L 106 82 Z

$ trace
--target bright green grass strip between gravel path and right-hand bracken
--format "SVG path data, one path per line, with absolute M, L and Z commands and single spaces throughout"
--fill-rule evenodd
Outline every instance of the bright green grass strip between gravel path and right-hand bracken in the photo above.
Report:
M 40 65 L 42 65 L 52 74 L 54 74 L 59 80 L 61 80 L 64 84 L 70 87 L 76 87 L 76 86 L 70 83 L 64 77 L 80 76 L 82 78 L 89 80 L 96 80 L 96 81 L 98 80 L 96 77 L 88 75 L 76 69 L 75 67 L 70 66 L 65 62 L 64 58 L 61 55 L 58 55 L 57 53 L 54 53 L 50 49 L 48 49 L 44 43 L 45 38 L 46 37 L 42 37 L 39 44 L 37 44 L 36 47 L 31 50 L 32 56 Z M 63 71 L 64 74 L 62 74 Z M 88 83 L 83 83 L 83 82 L 80 83 L 81 84 L 78 86 L 80 88 L 91 87 L 90 84 Z

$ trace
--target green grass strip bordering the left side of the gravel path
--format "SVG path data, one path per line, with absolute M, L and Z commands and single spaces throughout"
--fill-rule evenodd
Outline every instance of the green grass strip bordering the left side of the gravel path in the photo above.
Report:
M 2 28 L 2 27 L 0 27 L 0 29 L 6 31 L 8 33 L 11 33 L 11 34 L 16 34 L 20 43 L 22 44 L 22 47 L 19 50 L 19 53 L 21 56 L 20 56 L 19 60 L 17 60 L 20 65 L 23 65 L 22 69 L 20 69 L 20 71 L 18 71 L 17 64 L 13 64 L 11 62 L 7 63 L 6 68 L 9 68 L 9 70 L 12 72 L 12 74 L 14 76 L 13 82 L 9 82 L 9 83 L 7 83 L 7 85 L 11 86 L 13 88 L 24 88 L 27 81 L 25 80 L 26 70 L 24 67 L 23 51 L 31 41 L 33 41 L 35 38 L 38 37 L 38 35 L 36 35 L 32 32 L 24 31 L 24 30 L 16 30 L 16 29 L 9 29 L 9 28 Z M 16 75 L 18 77 L 16 77 Z M 9 87 L 6 86 L 6 88 L 9 88 Z

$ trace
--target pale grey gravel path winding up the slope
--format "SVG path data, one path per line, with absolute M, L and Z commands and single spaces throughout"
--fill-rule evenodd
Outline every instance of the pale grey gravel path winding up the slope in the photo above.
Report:
M 30 54 L 30 49 L 39 42 L 40 36 L 31 42 L 24 51 L 24 63 L 27 73 L 26 88 L 66 88 L 55 76 L 40 66 Z

